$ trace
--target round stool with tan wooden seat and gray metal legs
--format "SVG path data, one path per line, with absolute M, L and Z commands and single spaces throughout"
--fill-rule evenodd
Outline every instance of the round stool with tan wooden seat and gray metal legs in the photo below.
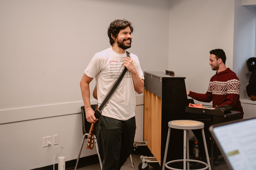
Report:
M 206 146 L 206 139 L 205 139 L 205 136 L 204 136 L 204 123 L 200 122 L 200 121 L 195 121 L 195 120 L 173 120 L 173 121 L 169 121 L 168 126 L 169 126 L 169 130 L 168 130 L 168 135 L 167 135 L 167 141 L 166 141 L 166 147 L 165 147 L 165 157 L 163 159 L 163 169 L 162 170 L 164 170 L 165 167 L 167 169 L 171 169 L 171 170 L 181 170 L 181 169 L 175 169 L 175 168 L 172 168 L 172 167 L 168 166 L 168 164 L 173 163 L 173 162 L 183 162 L 183 170 L 186 170 L 186 162 L 187 162 L 188 169 L 189 169 L 189 162 L 197 162 L 197 163 L 202 163 L 202 164 L 206 165 L 206 167 L 204 167 L 202 169 L 197 169 L 197 170 L 206 170 L 208 168 L 209 168 L 209 170 L 211 170 L 210 159 L 209 159 L 208 150 L 207 150 L 207 146 Z M 170 161 L 170 162 L 166 163 L 166 157 L 167 157 L 167 150 L 168 150 L 168 145 L 169 145 L 171 128 L 184 130 L 183 159 L 178 159 L 178 160 L 174 160 L 174 161 Z M 206 158 L 207 158 L 207 163 L 208 164 L 203 162 L 203 161 L 197 161 L 197 160 L 194 160 L 194 159 L 189 159 L 189 143 L 188 143 L 188 132 L 187 132 L 187 130 L 195 130 L 195 129 L 201 129 L 202 130 L 204 148 L 205 148 Z M 187 155 L 187 159 L 186 159 L 186 155 Z

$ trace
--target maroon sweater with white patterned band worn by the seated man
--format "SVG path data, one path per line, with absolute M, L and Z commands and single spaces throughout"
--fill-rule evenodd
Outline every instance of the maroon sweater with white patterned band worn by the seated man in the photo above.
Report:
M 243 118 L 244 111 L 239 100 L 240 81 L 232 70 L 227 68 L 223 72 L 219 72 L 212 76 L 209 87 L 205 94 L 190 92 L 188 96 L 195 100 L 203 102 L 211 102 L 212 107 L 215 105 L 229 105 L 233 107 L 233 111 L 241 112 L 240 117 Z

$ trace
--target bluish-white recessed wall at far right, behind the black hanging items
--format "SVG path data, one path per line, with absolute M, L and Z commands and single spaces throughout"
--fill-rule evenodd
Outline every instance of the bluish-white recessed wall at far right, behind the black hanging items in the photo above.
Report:
M 246 85 L 249 82 L 251 72 L 249 72 L 246 62 L 249 58 L 255 57 L 255 26 L 256 7 L 242 6 L 241 0 L 236 0 L 233 70 L 241 82 L 240 98 L 248 98 Z

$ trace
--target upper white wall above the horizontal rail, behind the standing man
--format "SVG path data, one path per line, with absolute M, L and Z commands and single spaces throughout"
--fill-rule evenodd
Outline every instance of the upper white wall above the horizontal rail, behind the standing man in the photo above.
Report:
M 110 47 L 107 28 L 114 19 L 132 21 L 129 51 L 143 71 L 167 68 L 168 2 L 2 0 L 0 109 L 80 101 L 83 71 Z

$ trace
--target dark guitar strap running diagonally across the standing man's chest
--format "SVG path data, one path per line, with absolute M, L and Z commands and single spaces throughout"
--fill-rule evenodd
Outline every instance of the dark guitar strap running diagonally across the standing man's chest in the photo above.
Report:
M 126 56 L 130 57 L 130 53 L 128 51 L 126 51 Z M 127 68 L 124 67 L 123 72 L 119 75 L 116 82 L 114 83 L 114 85 L 112 86 L 112 88 L 110 89 L 110 91 L 108 92 L 104 100 L 102 101 L 101 105 L 99 105 L 98 109 L 95 111 L 94 116 L 96 117 L 96 119 L 98 119 L 101 116 L 101 112 L 103 108 L 106 106 L 106 104 L 108 103 L 108 101 L 110 100 L 110 98 L 112 97 L 112 95 L 114 94 L 118 86 L 120 85 L 120 82 L 123 80 L 126 71 L 127 71 Z

